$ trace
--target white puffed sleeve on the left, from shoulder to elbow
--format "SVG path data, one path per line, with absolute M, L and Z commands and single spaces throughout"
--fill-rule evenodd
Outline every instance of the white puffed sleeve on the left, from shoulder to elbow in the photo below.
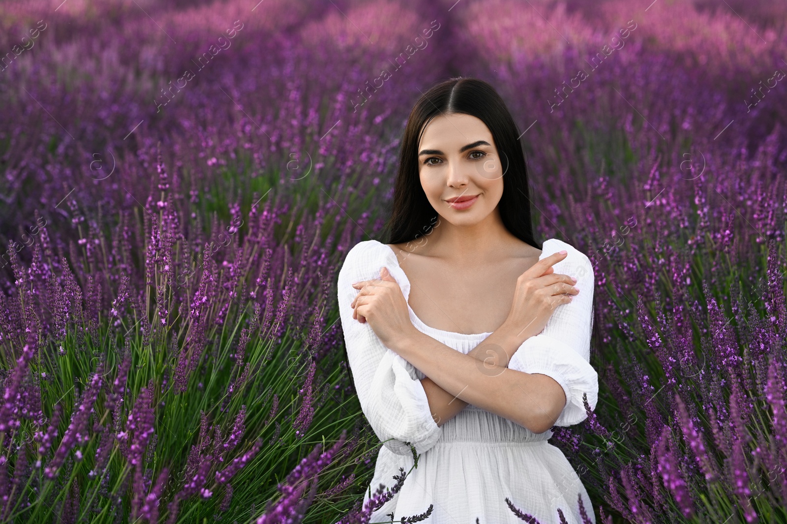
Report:
M 353 319 L 350 307 L 359 292 L 353 282 L 379 279 L 382 266 L 397 279 L 395 258 L 388 246 L 374 240 L 359 242 L 349 250 L 338 275 L 339 318 L 360 408 L 386 448 L 397 455 L 411 455 L 405 442 L 415 446 L 416 452 L 425 452 L 438 441 L 442 427 L 432 418 L 427 393 L 412 364 L 383 345 L 369 323 Z

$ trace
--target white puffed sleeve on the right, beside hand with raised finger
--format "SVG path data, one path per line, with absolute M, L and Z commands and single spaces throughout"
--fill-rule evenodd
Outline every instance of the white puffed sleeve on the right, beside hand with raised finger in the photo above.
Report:
M 550 238 L 541 256 L 566 249 L 568 255 L 552 265 L 556 273 L 577 279 L 579 294 L 569 304 L 557 306 L 540 334 L 523 342 L 508 362 L 509 369 L 540 373 L 554 378 L 566 394 L 566 406 L 555 426 L 572 426 L 587 418 L 582 395 L 587 393 L 591 409 L 598 400 L 598 375 L 590 365 L 590 335 L 593 330 L 593 264 L 566 242 Z

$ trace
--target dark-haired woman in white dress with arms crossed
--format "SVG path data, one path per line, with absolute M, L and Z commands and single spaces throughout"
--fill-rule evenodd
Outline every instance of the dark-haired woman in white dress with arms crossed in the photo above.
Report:
M 369 522 L 523 522 L 506 499 L 541 524 L 595 522 L 547 442 L 552 426 L 586 418 L 583 395 L 596 406 L 593 268 L 556 238 L 538 249 L 519 136 L 486 82 L 450 79 L 423 94 L 388 242 L 358 243 L 339 272 L 353 382 L 383 444 L 364 507 L 407 473 Z

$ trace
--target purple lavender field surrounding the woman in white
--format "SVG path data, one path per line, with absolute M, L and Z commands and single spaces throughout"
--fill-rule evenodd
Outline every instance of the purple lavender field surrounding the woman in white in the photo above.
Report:
M 9 0 L 0 26 L 0 522 L 368 523 L 336 278 L 453 76 L 524 130 L 538 236 L 593 262 L 598 403 L 550 440 L 583 524 L 787 522 L 783 2 Z

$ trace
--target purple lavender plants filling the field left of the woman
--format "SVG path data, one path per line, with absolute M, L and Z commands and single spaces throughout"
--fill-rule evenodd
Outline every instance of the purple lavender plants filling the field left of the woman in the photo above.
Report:
M 227 7 L 250 9 L 235 2 L 201 12 L 224 20 Z M 268 11 L 265 28 L 293 13 Z M 381 24 L 380 13 L 399 24 Z M 161 14 L 169 16 L 153 12 Z M 320 495 L 333 501 L 322 511 L 336 517 L 337 502 L 352 504 L 346 489 L 371 475 L 375 444 L 364 446 L 371 432 L 360 427 L 357 400 L 345 400 L 349 376 L 328 297 L 342 253 L 382 225 L 364 210 L 367 194 L 386 192 L 364 190 L 390 177 L 393 131 L 379 124 L 401 118 L 394 109 L 405 105 L 392 87 L 357 107 L 367 103 L 358 91 L 375 57 L 395 56 L 429 24 L 392 3 L 349 14 L 364 28 L 376 20 L 383 45 L 371 57 L 364 51 L 371 42 L 359 42 L 342 13 L 301 18 L 301 31 L 285 23 L 273 39 L 271 31 L 248 31 L 251 24 L 238 31 L 235 42 L 249 40 L 238 53 L 217 56 L 205 79 L 178 92 L 161 115 L 147 99 L 157 94 L 150 84 L 168 87 L 182 73 L 177 59 L 212 42 L 196 15 L 172 13 L 170 24 L 185 26 L 172 36 L 186 43 L 155 50 L 164 68 L 142 69 L 135 83 L 116 79 L 135 77 L 134 57 L 150 49 L 117 35 L 151 31 L 143 27 L 149 20 L 125 14 L 110 17 L 116 24 L 95 38 L 63 29 L 76 15 L 55 14 L 54 31 L 42 31 L 51 40 L 6 71 L 13 86 L 6 94 L 29 96 L 44 113 L 12 105 L 24 111 L 4 113 L 2 126 L 6 200 L 17 210 L 4 223 L 23 242 L 35 240 L 18 253 L 11 245 L 5 260 L 13 279 L 4 286 L 2 357 L 14 399 L 3 444 L 5 518 L 257 518 L 284 489 L 274 478 L 320 437 L 350 428 L 346 466 L 320 465 L 327 490 Z M 98 29 L 98 18 L 80 21 Z M 66 50 L 97 42 L 103 69 L 84 57 L 66 63 L 92 80 L 52 82 Z M 343 77 L 334 60 L 342 54 L 350 55 Z M 310 87 L 314 75 L 323 76 L 320 90 Z M 434 75 L 428 61 L 414 62 L 398 85 Z M 80 104 L 55 103 L 70 97 Z M 147 122 L 124 143 L 137 116 Z M 94 149 L 102 153 L 89 154 Z M 109 157 L 118 161 L 112 175 Z M 33 353 L 22 358 L 26 336 Z M 35 447 L 33 434 L 47 445 Z

